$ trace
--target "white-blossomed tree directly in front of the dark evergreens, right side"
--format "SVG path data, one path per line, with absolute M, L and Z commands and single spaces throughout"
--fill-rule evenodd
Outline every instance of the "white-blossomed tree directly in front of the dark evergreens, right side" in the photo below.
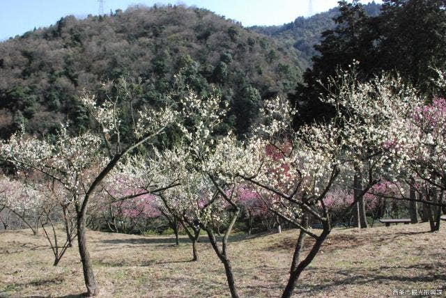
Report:
M 324 100 L 336 111 L 336 125 L 343 130 L 346 160 L 353 176 L 353 194 L 358 204 L 354 212 L 359 227 L 367 227 L 364 194 L 383 179 L 400 175 L 401 157 L 410 138 L 408 120 L 422 105 L 414 88 L 403 84 L 399 77 L 387 75 L 367 82 L 357 79 L 354 61 L 349 70 L 330 79 L 333 93 Z

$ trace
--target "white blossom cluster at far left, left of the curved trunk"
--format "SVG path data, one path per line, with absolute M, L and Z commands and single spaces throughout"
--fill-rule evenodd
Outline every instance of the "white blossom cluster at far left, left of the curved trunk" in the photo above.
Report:
M 14 134 L 1 144 L 1 156 L 24 171 L 40 171 L 69 191 L 67 202 L 78 200 L 107 162 L 101 154 L 99 136 L 86 132 L 70 136 L 64 125 L 55 142 L 35 136 Z

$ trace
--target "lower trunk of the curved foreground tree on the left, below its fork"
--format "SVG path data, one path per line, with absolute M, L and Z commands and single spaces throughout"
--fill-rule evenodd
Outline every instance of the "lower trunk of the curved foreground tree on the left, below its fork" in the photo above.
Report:
M 82 261 L 82 269 L 84 271 L 84 281 L 87 289 L 87 295 L 98 295 L 98 284 L 95 281 L 93 273 L 93 264 L 90 260 L 90 253 L 86 247 L 86 222 L 85 214 L 78 212 L 77 214 L 77 244 L 79 245 L 79 256 Z

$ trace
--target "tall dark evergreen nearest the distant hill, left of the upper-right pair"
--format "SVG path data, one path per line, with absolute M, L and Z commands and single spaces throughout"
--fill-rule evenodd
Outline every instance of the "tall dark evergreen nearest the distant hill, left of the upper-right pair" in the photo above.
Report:
M 300 113 L 295 125 L 322 120 L 332 115 L 332 108 L 323 104 L 319 97 L 327 92 L 328 77 L 339 69 L 346 69 L 353 60 L 360 61 L 362 76 L 367 79 L 376 70 L 376 39 L 378 31 L 374 17 L 368 17 L 361 3 L 339 1 L 340 15 L 334 18 L 336 28 L 322 33 L 323 40 L 315 49 L 320 53 L 313 56 L 313 68 L 304 74 L 304 84 L 299 84 L 290 95 Z

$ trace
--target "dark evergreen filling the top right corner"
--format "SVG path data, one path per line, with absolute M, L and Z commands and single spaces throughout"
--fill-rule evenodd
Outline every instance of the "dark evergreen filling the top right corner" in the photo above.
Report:
M 384 0 L 379 66 L 429 92 L 433 68 L 446 66 L 446 1 Z

